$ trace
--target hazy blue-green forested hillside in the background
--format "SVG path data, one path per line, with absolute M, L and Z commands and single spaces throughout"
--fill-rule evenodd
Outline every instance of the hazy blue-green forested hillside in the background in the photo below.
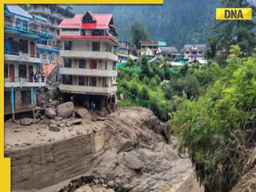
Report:
M 185 43 L 206 43 L 213 25 L 216 0 L 169 0 L 164 5 L 73 5 L 75 13 L 87 9 L 113 13 L 119 39 L 129 40 L 132 21 L 139 20 L 152 39 L 181 49 Z

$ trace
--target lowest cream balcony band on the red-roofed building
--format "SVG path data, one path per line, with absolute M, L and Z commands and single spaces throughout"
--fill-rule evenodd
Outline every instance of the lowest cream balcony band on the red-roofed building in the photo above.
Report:
M 117 91 L 117 86 L 112 87 L 91 87 L 81 85 L 59 85 L 59 90 L 65 93 L 82 93 L 95 95 L 108 95 Z

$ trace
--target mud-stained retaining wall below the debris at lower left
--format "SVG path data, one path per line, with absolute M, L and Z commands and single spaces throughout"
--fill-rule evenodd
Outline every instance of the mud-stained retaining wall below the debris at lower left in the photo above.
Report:
M 11 190 L 40 189 L 85 174 L 107 137 L 99 131 L 57 143 L 5 151 L 5 157 L 11 157 Z

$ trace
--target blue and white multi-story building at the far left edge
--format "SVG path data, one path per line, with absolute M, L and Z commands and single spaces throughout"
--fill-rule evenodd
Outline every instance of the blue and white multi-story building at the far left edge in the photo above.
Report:
M 47 41 L 43 25 L 18 5 L 5 5 L 5 114 L 31 111 L 36 92 L 45 79 L 33 78 L 41 63 L 49 63 L 37 49 L 37 39 Z

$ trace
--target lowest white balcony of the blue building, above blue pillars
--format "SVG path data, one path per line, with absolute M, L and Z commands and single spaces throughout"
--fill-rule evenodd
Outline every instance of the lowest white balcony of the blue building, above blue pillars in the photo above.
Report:
M 22 77 L 5 78 L 5 87 L 45 87 L 46 79 L 29 79 Z

